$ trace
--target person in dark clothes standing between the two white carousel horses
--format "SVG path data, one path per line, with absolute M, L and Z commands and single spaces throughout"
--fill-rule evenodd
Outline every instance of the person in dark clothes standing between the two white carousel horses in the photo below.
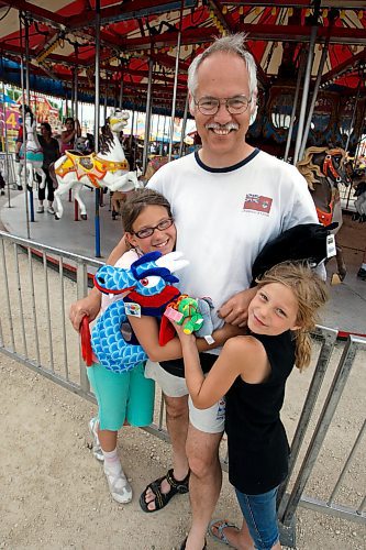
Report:
M 59 146 L 58 141 L 52 136 L 52 129 L 48 122 L 42 122 L 41 124 L 41 135 L 38 135 L 38 142 L 43 151 L 43 166 L 42 169 L 46 175 L 46 185 L 43 189 L 38 187 L 38 208 L 37 213 L 44 212 L 44 200 L 46 196 L 47 188 L 47 200 L 48 213 L 55 213 L 53 201 L 54 201 L 54 183 L 49 176 L 49 165 L 59 158 Z

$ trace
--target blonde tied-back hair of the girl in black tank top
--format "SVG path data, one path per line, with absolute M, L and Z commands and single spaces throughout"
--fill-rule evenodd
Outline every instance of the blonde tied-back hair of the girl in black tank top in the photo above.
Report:
M 314 329 L 318 309 L 329 296 L 325 283 L 306 263 L 282 262 L 268 270 L 257 280 L 260 288 L 269 283 L 279 283 L 290 288 L 298 300 L 296 331 L 296 366 L 302 371 L 311 359 L 310 331 Z

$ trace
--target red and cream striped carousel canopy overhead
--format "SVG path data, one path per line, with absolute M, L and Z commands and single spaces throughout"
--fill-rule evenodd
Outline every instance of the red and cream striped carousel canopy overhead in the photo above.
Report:
M 31 88 L 70 98 L 77 81 L 78 98 L 92 100 L 97 12 L 95 0 L 0 0 L 0 78 L 20 86 L 27 56 Z M 153 108 L 168 112 L 178 55 L 181 112 L 192 57 L 234 32 L 247 33 L 262 94 L 293 85 L 315 32 L 312 81 L 326 48 L 320 88 L 365 96 L 364 0 L 100 0 L 100 94 L 110 103 L 123 81 L 124 107 L 144 110 L 152 65 Z

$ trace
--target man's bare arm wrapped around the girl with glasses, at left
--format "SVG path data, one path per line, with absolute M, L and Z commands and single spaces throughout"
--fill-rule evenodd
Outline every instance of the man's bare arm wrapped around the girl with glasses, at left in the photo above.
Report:
M 108 256 L 107 264 L 114 265 L 115 262 L 127 251 L 124 237 L 118 245 L 112 250 Z M 89 321 L 93 321 L 99 314 L 101 305 L 101 293 L 98 288 L 92 288 L 88 296 L 75 301 L 70 306 L 68 317 L 71 321 L 74 329 L 78 332 L 80 330 L 80 323 L 82 317 L 87 316 Z

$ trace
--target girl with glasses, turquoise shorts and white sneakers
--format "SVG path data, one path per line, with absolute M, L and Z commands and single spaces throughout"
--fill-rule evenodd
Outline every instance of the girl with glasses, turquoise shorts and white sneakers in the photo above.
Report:
M 117 267 L 130 267 L 147 252 L 158 251 L 165 255 L 175 249 L 177 231 L 170 205 L 163 195 L 152 189 L 137 189 L 129 195 L 122 208 L 122 223 L 132 249 L 115 263 Z M 110 296 L 102 296 L 102 311 L 112 304 L 112 300 L 122 299 L 121 295 L 111 298 Z M 146 330 L 148 331 L 148 346 L 158 350 L 159 360 L 181 358 L 178 338 L 170 340 L 164 348 L 159 346 L 157 319 L 144 315 L 141 318 L 133 318 L 131 330 L 138 341 Z M 215 331 L 213 333 L 215 342 L 212 345 L 203 339 L 198 339 L 200 350 L 222 345 L 229 336 L 225 329 Z M 147 348 L 145 351 L 147 354 L 151 352 Z M 140 427 L 153 421 L 155 383 L 151 378 L 145 378 L 144 372 L 144 363 L 122 373 L 109 371 L 99 363 L 87 369 L 99 407 L 98 418 L 92 418 L 89 422 L 93 436 L 93 454 L 104 462 L 110 493 L 122 504 L 131 502 L 132 488 L 118 457 L 118 430 L 125 420 L 131 426 Z

